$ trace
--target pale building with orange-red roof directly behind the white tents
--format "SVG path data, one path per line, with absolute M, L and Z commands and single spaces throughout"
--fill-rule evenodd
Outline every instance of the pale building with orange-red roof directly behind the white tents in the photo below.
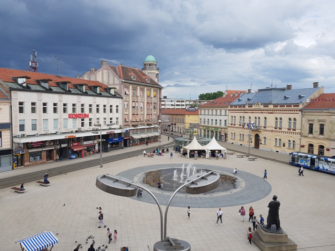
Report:
M 245 91 L 226 90 L 222 97 L 199 106 L 200 137 L 227 141 L 228 107 Z

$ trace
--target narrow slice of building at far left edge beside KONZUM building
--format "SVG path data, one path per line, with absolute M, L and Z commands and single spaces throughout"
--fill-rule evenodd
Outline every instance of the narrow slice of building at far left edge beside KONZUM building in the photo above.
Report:
M 10 98 L 0 88 L 0 172 L 12 168 Z

